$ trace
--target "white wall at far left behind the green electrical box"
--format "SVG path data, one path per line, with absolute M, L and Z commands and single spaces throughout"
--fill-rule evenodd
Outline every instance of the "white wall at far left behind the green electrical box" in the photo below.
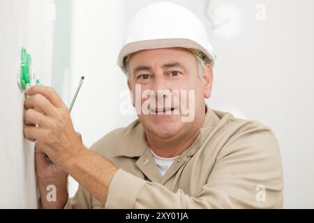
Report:
M 37 208 L 33 143 L 23 137 L 24 93 L 17 86 L 19 45 L 32 56 L 36 76 L 50 85 L 52 1 L 0 1 L 0 208 Z

